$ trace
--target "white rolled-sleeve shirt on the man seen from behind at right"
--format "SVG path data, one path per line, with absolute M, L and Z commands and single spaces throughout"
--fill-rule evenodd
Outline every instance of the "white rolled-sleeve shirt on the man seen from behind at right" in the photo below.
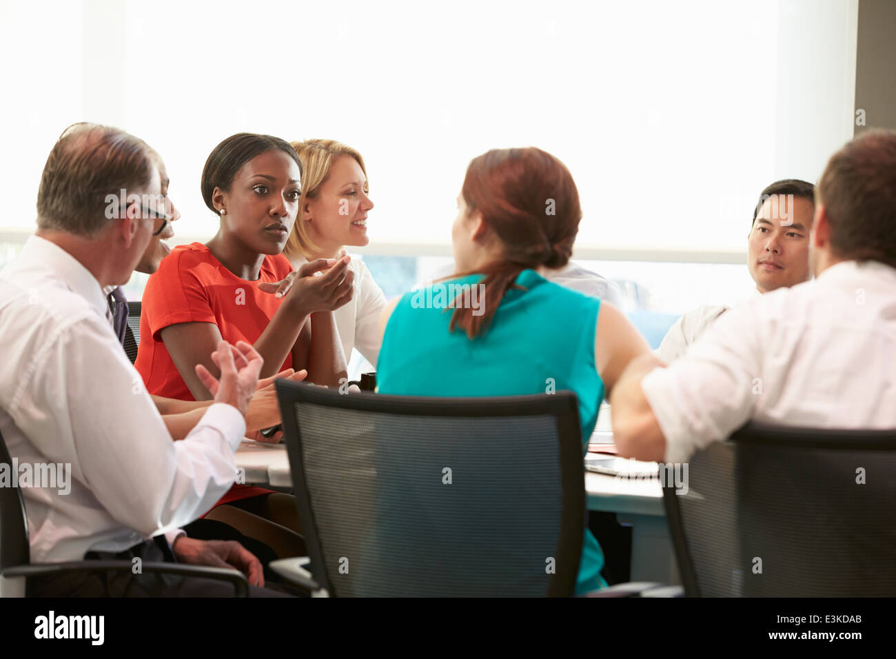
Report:
M 846 261 L 751 299 L 641 386 L 668 463 L 750 420 L 896 429 L 896 269 Z

